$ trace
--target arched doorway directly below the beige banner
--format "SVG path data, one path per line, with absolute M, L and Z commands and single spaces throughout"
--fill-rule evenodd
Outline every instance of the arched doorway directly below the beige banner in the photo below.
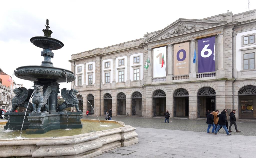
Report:
M 173 116 L 188 117 L 188 91 L 184 88 L 176 89 L 173 93 Z

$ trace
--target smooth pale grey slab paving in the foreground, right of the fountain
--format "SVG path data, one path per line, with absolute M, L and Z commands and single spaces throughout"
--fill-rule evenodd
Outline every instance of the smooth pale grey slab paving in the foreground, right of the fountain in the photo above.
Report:
M 137 127 L 139 143 L 95 156 L 105 157 L 239 157 L 256 155 L 256 137 Z M 123 154 L 119 154 L 123 153 Z

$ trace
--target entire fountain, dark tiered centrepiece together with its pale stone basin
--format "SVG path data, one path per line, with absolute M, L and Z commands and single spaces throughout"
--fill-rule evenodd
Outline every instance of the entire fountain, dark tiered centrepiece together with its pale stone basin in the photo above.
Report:
M 137 143 L 138 135 L 135 128 L 125 125 L 121 121 L 102 120 L 101 122 L 105 123 L 104 126 L 118 124 L 118 127 L 95 130 L 94 132 L 74 135 L 69 134 L 69 130 L 59 131 L 67 127 L 81 128 L 80 119 L 83 114 L 78 109 L 76 98 L 78 92 L 76 90 L 63 88 L 61 95 L 65 102 L 57 107 L 58 82 L 71 82 L 75 80 L 75 76 L 69 70 L 54 67 L 51 62 L 51 58 L 54 57 L 52 50 L 62 48 L 63 43 L 51 38 L 52 31 L 49 30 L 48 19 L 46 20 L 46 29 L 43 31 L 44 37 L 30 39 L 35 46 L 43 48 L 41 56 L 44 56 L 44 61 L 42 64 L 18 67 L 15 71 L 15 76 L 18 78 L 34 81 L 34 90 L 27 90 L 23 87 L 14 89 L 16 95 L 12 100 L 12 109 L 5 115 L 8 122 L 4 129 L 20 130 L 24 125 L 23 129 L 26 129 L 26 134 L 30 136 L 45 132 L 47 136 L 41 138 L 1 137 L 0 157 L 93 157 L 114 148 Z M 30 103 L 31 96 L 33 96 L 32 104 Z M 25 107 L 26 112 L 14 112 L 18 106 Z M 72 106 L 75 106 L 78 112 L 63 111 L 66 107 Z M 99 123 L 98 120 L 89 119 L 84 119 L 83 122 L 86 125 L 91 122 L 94 126 Z M 47 131 L 49 130 L 57 133 L 57 137 L 48 135 Z M 72 130 L 79 131 L 80 129 Z M 67 132 L 69 135 L 60 137 L 60 132 Z

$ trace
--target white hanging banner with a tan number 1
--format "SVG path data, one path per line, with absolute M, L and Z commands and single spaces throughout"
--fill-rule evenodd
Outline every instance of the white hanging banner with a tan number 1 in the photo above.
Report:
M 166 77 L 166 46 L 153 49 L 153 62 L 153 77 Z

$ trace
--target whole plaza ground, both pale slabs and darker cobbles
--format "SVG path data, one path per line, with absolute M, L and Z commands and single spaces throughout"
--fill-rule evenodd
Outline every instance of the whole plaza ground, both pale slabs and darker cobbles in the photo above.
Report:
M 99 118 L 104 119 L 104 116 Z M 136 127 L 139 143 L 104 152 L 97 158 L 256 157 L 256 121 L 238 120 L 241 132 L 227 136 L 223 129 L 218 135 L 206 133 L 206 120 L 170 119 L 172 122 L 164 123 L 164 117 L 125 116 L 114 116 L 113 120 Z M 234 127 L 231 129 L 234 131 Z

